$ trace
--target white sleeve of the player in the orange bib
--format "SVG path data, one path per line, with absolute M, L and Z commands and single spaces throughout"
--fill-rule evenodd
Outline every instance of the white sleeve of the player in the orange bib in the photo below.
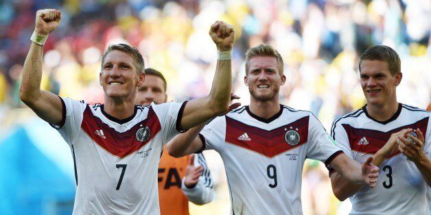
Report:
M 185 178 L 183 178 L 181 189 L 189 201 L 195 203 L 196 205 L 203 205 L 213 201 L 213 179 L 211 177 L 211 173 L 209 172 L 207 161 L 205 160 L 204 155 L 202 153 L 198 153 L 194 154 L 193 156 L 196 156 L 194 165 L 202 166 L 202 175 L 199 178 L 198 184 L 196 184 L 194 188 L 187 188 L 185 186 Z

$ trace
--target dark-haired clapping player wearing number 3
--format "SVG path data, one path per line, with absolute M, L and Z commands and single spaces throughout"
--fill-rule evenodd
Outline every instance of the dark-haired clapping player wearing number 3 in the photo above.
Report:
M 426 214 L 430 112 L 397 101 L 401 62 L 391 47 L 366 50 L 359 71 L 366 105 L 336 119 L 331 135 L 347 156 L 358 162 L 373 157 L 372 163 L 382 172 L 370 190 L 351 184 L 338 170 L 331 171 L 334 194 L 340 201 L 351 197 L 351 214 Z

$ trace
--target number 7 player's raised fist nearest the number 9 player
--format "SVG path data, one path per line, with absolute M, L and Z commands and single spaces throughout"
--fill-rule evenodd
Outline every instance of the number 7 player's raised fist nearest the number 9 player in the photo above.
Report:
M 218 51 L 231 51 L 235 30 L 228 23 L 216 21 L 209 29 L 209 36 L 213 39 Z

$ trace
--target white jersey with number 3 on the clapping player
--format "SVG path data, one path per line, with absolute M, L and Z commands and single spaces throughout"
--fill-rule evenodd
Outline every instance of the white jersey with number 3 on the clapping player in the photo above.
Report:
M 423 151 L 430 157 L 430 112 L 399 104 L 388 121 L 373 119 L 362 108 L 334 121 L 331 135 L 346 155 L 363 163 L 401 129 L 421 129 Z M 375 188 L 362 188 L 350 197 L 351 214 L 426 214 L 426 181 L 413 162 L 399 151 L 380 166 Z

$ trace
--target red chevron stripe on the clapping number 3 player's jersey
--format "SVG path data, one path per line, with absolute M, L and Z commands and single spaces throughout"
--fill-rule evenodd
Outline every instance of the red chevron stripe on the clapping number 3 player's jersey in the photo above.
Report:
M 426 134 L 428 129 L 428 118 L 423 118 L 416 123 L 412 123 L 410 125 L 404 125 L 402 127 L 398 127 L 396 129 L 392 129 L 391 131 L 376 131 L 373 129 L 357 129 L 351 127 L 349 124 L 342 124 L 342 127 L 345 128 L 347 136 L 349 137 L 350 148 L 353 151 L 358 151 L 362 153 L 376 153 L 379 149 L 381 149 L 384 144 L 389 140 L 391 134 L 401 131 L 402 129 L 411 128 L 411 129 L 421 129 L 423 135 Z M 393 153 L 388 157 L 393 157 L 400 152 Z

